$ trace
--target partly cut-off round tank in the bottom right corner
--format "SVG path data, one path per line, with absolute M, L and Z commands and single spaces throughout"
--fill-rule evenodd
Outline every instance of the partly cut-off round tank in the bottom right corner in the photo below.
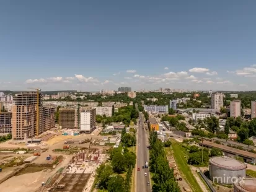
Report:
M 234 183 L 234 192 L 252 192 L 256 188 L 256 178 L 243 178 Z

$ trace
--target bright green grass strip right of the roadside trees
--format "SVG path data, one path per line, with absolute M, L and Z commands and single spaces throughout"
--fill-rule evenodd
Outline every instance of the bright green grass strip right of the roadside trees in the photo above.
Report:
M 178 142 L 176 142 L 174 139 L 172 139 L 172 149 L 174 152 L 175 162 L 178 165 L 180 172 L 183 173 L 185 180 L 190 185 L 190 188 L 192 188 L 192 190 L 195 192 L 202 191 L 200 186 L 198 185 L 192 171 L 188 167 L 187 160 L 185 159 L 186 154 L 183 151 L 182 146 Z

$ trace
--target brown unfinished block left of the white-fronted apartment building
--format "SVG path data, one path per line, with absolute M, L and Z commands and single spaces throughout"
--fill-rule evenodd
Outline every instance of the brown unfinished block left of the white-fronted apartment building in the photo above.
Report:
M 59 110 L 59 125 L 62 129 L 75 128 L 75 113 L 73 108 L 60 108 Z

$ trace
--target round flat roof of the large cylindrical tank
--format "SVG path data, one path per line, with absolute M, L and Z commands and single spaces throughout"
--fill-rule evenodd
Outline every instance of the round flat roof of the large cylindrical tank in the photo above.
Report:
M 239 162 L 236 159 L 232 159 L 226 156 L 223 157 L 213 157 L 210 159 L 210 163 L 217 165 L 219 167 L 224 167 L 227 169 L 232 169 L 232 170 L 241 170 L 245 169 L 246 165 L 243 164 L 242 162 Z

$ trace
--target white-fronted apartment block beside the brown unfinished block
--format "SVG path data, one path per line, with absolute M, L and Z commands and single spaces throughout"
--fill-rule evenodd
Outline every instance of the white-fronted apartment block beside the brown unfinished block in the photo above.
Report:
M 80 114 L 80 131 L 84 133 L 92 133 L 96 128 L 95 108 L 82 110 Z

